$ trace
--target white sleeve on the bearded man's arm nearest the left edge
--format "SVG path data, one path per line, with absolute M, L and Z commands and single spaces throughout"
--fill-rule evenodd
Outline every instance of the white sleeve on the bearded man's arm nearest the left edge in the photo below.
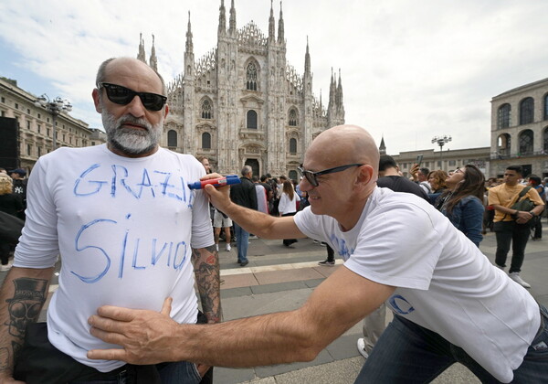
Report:
M 14 266 L 49 268 L 58 259 L 57 209 L 48 186 L 55 178 L 47 174 L 47 160 L 37 161 L 26 188 L 26 221 L 16 247 Z M 55 166 L 53 167 L 55 168 Z

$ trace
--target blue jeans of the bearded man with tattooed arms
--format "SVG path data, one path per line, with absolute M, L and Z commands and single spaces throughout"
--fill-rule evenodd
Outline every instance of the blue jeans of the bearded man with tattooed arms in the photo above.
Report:
M 157 368 L 162 384 L 197 384 L 202 379 L 194 363 L 188 361 L 158 364 Z M 129 384 L 132 381 L 128 373 L 122 371 L 108 379 L 72 381 L 70 384 Z

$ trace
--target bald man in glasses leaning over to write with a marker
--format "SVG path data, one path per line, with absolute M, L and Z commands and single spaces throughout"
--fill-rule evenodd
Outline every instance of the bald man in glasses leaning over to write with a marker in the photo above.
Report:
M 357 126 L 321 133 L 300 166 L 311 206 L 293 217 L 241 208 L 227 188 L 206 188 L 217 207 L 260 238 L 309 236 L 344 259 L 302 307 L 178 325 L 167 316 L 169 299 L 161 313 L 103 306 L 90 318 L 90 332 L 123 349 L 89 357 L 227 367 L 310 361 L 386 301 L 395 319 L 357 383 L 430 382 L 457 361 L 483 382 L 545 381 L 545 309 L 425 199 L 376 187 L 376 148 Z

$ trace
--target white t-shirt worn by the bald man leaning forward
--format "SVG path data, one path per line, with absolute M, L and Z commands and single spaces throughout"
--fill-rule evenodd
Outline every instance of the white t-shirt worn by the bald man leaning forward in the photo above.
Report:
M 426 200 L 377 187 L 346 232 L 310 208 L 295 222 L 305 235 L 327 241 L 349 270 L 397 287 L 386 301 L 395 314 L 511 381 L 539 329 L 539 306 Z

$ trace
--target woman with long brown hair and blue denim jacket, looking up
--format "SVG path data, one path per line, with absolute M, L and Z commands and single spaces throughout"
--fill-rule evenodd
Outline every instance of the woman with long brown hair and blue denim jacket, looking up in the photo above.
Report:
M 448 189 L 437 199 L 437 208 L 479 247 L 483 240 L 485 176 L 475 165 L 466 165 L 448 176 L 446 185 Z

